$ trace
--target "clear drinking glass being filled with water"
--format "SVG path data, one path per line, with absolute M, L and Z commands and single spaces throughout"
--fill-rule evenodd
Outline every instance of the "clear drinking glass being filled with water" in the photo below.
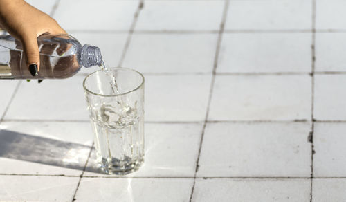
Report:
M 88 75 L 84 93 L 100 169 L 128 174 L 144 159 L 144 77 L 129 68 L 109 71 Z

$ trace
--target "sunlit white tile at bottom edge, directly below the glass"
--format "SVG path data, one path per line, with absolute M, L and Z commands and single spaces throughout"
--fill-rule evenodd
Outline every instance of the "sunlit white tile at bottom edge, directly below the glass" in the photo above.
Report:
M 193 179 L 82 178 L 76 201 L 188 201 Z M 93 190 L 93 192 L 90 192 Z

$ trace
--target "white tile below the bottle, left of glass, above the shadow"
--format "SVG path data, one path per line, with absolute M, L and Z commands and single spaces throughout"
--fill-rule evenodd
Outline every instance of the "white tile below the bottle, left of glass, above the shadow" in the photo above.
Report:
M 23 82 L 17 91 L 7 119 L 89 120 L 82 87 L 83 76 L 66 80 Z

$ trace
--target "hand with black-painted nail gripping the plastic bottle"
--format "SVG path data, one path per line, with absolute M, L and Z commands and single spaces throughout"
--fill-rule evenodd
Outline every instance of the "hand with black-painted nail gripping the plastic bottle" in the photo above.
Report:
M 23 44 L 26 66 L 33 76 L 40 64 L 37 37 L 66 34 L 55 19 L 23 0 L 0 0 L 0 25 Z

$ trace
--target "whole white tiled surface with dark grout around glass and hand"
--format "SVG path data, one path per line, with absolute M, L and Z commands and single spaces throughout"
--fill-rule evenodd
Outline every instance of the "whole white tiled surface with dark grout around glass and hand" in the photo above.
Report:
M 345 1 L 28 2 L 144 73 L 145 164 L 95 169 L 98 68 L 2 80 L 0 201 L 346 200 Z

